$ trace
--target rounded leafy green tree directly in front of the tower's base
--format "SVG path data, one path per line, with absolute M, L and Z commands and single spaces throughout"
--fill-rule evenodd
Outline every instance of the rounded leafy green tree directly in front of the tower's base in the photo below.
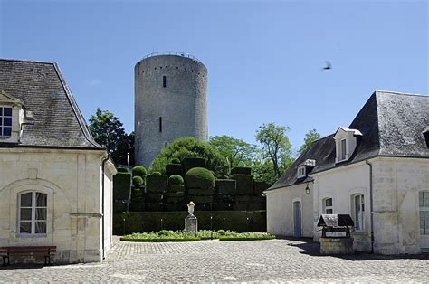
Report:
M 207 159 L 207 169 L 213 171 L 215 176 L 222 176 L 227 166 L 224 156 L 221 156 L 215 147 L 202 142 L 195 137 L 181 137 L 165 147 L 157 155 L 150 166 L 149 172 L 166 172 L 166 165 L 174 158 L 182 161 L 186 157 L 203 157 Z

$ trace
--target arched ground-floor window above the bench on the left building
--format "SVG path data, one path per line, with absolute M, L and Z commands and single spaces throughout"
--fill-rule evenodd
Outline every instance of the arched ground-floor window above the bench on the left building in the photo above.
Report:
M 39 192 L 24 192 L 19 194 L 19 234 L 46 234 L 47 195 Z

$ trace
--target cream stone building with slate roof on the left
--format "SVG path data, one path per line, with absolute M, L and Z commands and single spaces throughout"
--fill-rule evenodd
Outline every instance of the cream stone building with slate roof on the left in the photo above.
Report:
M 0 60 L 0 246 L 102 260 L 115 173 L 55 63 Z

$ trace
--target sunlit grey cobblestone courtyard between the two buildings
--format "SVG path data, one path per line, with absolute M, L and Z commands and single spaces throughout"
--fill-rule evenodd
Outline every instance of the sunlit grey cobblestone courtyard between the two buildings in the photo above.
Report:
M 429 281 L 429 256 L 320 256 L 311 242 L 117 242 L 103 263 L 0 267 L 0 282 Z

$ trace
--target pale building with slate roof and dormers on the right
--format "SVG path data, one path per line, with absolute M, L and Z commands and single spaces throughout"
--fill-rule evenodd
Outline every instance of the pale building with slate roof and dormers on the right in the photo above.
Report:
M 268 232 L 318 241 L 320 214 L 346 213 L 355 250 L 429 250 L 429 97 L 376 91 L 265 193 Z

